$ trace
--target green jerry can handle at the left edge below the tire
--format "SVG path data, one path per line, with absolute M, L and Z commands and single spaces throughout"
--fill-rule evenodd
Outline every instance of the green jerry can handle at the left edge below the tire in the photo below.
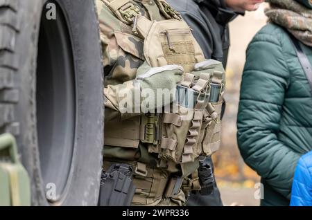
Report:
M 16 140 L 12 134 L 0 135 L 0 152 L 4 149 L 8 149 L 12 163 L 18 163 Z

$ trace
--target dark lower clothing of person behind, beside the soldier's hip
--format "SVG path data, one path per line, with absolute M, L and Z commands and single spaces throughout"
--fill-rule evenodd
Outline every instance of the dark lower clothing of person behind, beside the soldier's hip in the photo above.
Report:
M 212 163 L 210 156 L 205 158 L 205 162 L 209 163 L 214 170 L 214 164 Z M 187 199 L 187 206 L 223 206 L 216 181 L 214 181 L 214 189 L 212 190 L 212 193 L 207 196 L 191 193 Z

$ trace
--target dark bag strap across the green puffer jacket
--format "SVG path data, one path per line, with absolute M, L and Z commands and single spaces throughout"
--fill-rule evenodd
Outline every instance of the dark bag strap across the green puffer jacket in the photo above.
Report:
M 308 57 L 302 50 L 302 46 L 300 42 L 290 33 L 289 36 L 291 37 L 291 41 L 293 42 L 293 45 L 295 46 L 295 50 L 297 53 L 297 57 L 300 61 L 300 64 L 302 68 L 304 69 L 304 73 L 306 73 L 306 79 L 309 81 L 310 88 L 311 88 L 311 95 L 312 95 L 312 66 L 309 62 Z

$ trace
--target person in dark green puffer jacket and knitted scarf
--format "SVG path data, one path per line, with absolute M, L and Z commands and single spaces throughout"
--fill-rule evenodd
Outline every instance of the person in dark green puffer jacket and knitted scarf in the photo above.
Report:
M 312 150 L 312 95 L 289 34 L 312 64 L 312 3 L 270 0 L 269 22 L 247 51 L 237 139 L 261 176 L 261 205 L 289 205 L 295 167 Z

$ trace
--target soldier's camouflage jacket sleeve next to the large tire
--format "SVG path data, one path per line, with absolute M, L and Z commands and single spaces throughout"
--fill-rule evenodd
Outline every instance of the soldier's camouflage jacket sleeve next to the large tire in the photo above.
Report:
M 117 42 L 114 32 L 116 30 L 121 31 L 121 21 L 112 14 L 110 9 L 107 8 L 101 0 L 96 0 L 96 6 L 98 9 L 100 38 L 103 51 L 103 68 L 105 73 L 105 121 L 110 121 L 114 118 L 123 118 L 122 116 L 125 115 L 122 114 L 120 111 L 121 109 L 119 109 L 118 102 L 121 91 L 123 91 L 123 93 L 125 93 L 125 91 L 133 93 L 135 90 L 134 77 L 137 68 L 133 67 L 125 70 L 123 66 L 119 66 L 119 62 L 122 60 L 126 61 L 126 59 L 136 60 L 137 58 L 132 57 L 130 54 L 126 54 Z M 126 71 L 129 72 L 128 75 L 125 73 Z M 116 82 L 109 82 L 107 79 L 110 79 L 112 75 L 118 75 L 117 72 L 120 75 L 117 79 L 120 83 L 116 84 Z M 124 80 L 124 78 L 127 80 Z M 124 117 L 130 118 L 132 116 L 137 116 L 137 113 L 129 113 Z

